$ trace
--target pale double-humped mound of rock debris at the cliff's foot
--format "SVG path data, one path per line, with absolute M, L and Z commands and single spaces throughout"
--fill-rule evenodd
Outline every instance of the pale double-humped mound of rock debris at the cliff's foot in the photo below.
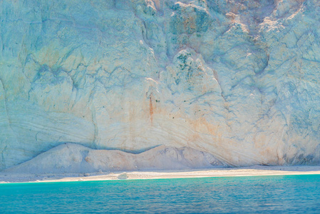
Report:
M 74 143 L 56 146 L 36 158 L 4 170 L 6 173 L 89 173 L 123 170 L 169 170 L 223 168 L 210 153 L 192 148 L 158 146 L 133 154 L 115 150 L 94 150 Z M 119 179 L 125 179 L 125 174 Z

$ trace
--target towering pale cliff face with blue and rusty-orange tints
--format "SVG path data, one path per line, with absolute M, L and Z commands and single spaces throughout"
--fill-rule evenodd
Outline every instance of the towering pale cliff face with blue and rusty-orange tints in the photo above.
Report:
M 0 1 L 0 170 L 61 143 L 320 162 L 317 0 Z

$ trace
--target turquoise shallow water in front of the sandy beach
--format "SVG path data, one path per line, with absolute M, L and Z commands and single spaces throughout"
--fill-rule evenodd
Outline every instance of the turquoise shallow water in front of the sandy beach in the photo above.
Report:
M 320 213 L 320 175 L 0 185 L 0 213 Z

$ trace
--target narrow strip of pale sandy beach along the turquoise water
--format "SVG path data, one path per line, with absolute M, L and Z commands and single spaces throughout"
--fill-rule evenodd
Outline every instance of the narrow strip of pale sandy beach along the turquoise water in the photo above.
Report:
M 188 170 L 153 170 L 131 172 L 61 173 L 61 174 L 20 174 L 0 172 L 3 183 L 73 182 L 93 180 L 144 180 L 167 178 L 218 178 L 267 175 L 319 175 L 320 165 L 263 166 L 242 168 L 206 168 Z

